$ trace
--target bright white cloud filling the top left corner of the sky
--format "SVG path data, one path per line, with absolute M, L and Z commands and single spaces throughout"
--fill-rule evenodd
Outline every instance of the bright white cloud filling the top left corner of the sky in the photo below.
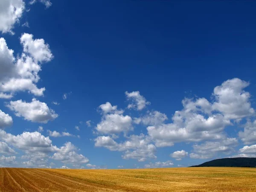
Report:
M 20 17 L 25 9 L 23 0 L 1 0 L 0 1 L 0 31 L 2 33 L 12 32 L 15 23 L 19 23 Z

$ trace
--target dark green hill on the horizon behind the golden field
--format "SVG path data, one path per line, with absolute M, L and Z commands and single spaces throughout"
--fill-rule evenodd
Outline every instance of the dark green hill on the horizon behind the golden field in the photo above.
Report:
M 215 159 L 202 163 L 201 165 L 190 167 L 256 167 L 256 158 L 237 157 Z

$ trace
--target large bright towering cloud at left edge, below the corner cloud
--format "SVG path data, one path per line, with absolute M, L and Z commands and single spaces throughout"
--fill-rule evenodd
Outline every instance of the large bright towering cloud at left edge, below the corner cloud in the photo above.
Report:
M 17 91 L 28 91 L 35 96 L 43 96 L 45 88 L 38 88 L 38 73 L 41 63 L 50 61 L 53 56 L 49 45 L 43 39 L 33 39 L 33 35 L 24 33 L 20 37 L 23 51 L 15 58 L 14 51 L 7 47 L 4 38 L 0 38 L 0 96 L 9 99 Z M 38 63 L 40 62 L 40 63 Z

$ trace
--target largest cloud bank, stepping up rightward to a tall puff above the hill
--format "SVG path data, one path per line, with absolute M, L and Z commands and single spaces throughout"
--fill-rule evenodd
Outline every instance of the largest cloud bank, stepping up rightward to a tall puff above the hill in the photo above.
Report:
M 148 134 L 157 147 L 171 146 L 177 142 L 225 139 L 224 128 L 233 125 L 230 120 L 239 122 L 242 118 L 255 114 L 249 101 L 250 93 L 244 91 L 248 85 L 248 82 L 237 78 L 224 81 L 221 86 L 214 88 L 213 104 L 205 98 L 185 98 L 182 101 L 183 109 L 175 111 L 172 123 L 149 126 Z M 253 127 L 252 124 L 247 125 L 244 133 L 239 132 L 244 142 L 254 140 L 256 129 Z

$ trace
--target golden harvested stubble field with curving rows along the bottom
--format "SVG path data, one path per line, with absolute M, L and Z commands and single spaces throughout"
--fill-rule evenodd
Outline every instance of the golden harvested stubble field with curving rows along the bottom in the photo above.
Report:
M 255 168 L 0 168 L 1 192 L 254 192 Z

